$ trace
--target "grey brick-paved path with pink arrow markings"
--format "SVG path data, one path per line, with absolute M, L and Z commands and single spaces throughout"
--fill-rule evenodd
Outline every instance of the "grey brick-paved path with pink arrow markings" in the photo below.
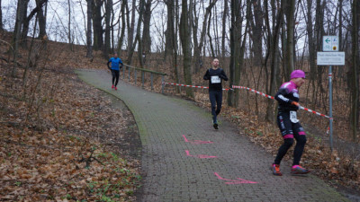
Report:
M 347 201 L 314 175 L 290 175 L 286 162 L 284 175 L 274 176 L 271 154 L 225 120 L 213 129 L 210 112 L 192 101 L 123 82 L 114 91 L 105 71 L 78 74 L 124 101 L 135 117 L 146 175 L 139 201 Z

